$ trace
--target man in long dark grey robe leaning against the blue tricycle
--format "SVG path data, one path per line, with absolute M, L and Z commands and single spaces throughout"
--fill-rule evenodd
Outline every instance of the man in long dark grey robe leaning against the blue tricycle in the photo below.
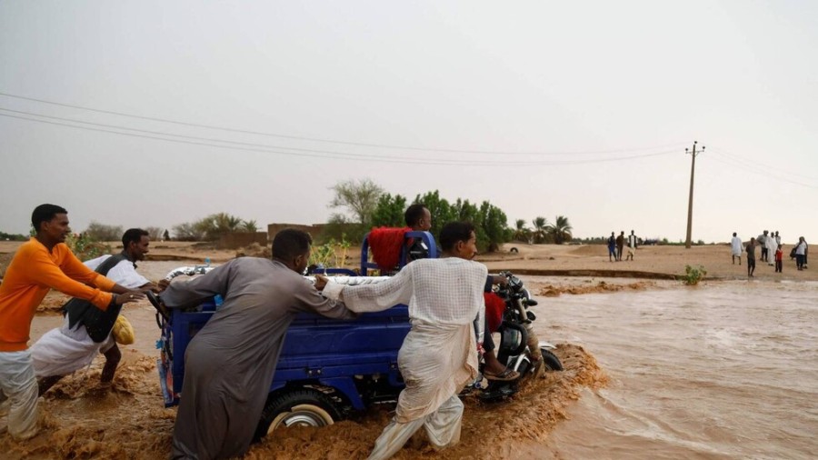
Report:
M 301 275 L 311 243 L 304 232 L 283 230 L 273 240 L 273 260 L 234 259 L 165 289 L 162 301 L 170 308 L 213 295 L 224 298 L 185 352 L 173 458 L 205 460 L 246 453 L 294 316 L 314 312 L 354 317 Z

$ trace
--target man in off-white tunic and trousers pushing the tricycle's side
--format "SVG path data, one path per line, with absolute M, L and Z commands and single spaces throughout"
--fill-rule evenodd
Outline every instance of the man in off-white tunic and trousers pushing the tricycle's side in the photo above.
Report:
M 457 395 L 477 375 L 473 323 L 484 311 L 487 270 L 471 260 L 477 255 L 474 225 L 445 225 L 440 244 L 441 258 L 416 260 L 375 285 L 344 286 L 323 276 L 316 283 L 359 313 L 409 306 L 412 328 L 398 354 L 406 387 L 370 459 L 391 457 L 422 426 L 435 447 L 460 441 L 463 403 Z

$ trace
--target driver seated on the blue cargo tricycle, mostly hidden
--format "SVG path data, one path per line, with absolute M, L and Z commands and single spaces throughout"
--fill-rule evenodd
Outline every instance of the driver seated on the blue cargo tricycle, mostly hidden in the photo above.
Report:
M 428 232 L 432 229 L 432 213 L 429 209 L 420 203 L 415 203 L 406 208 L 404 213 L 406 225 L 415 232 Z M 439 251 L 438 251 L 439 252 Z M 409 245 L 407 261 L 417 259 L 425 259 L 429 256 L 429 248 L 426 247 L 422 239 L 416 239 Z M 484 292 L 491 295 L 492 285 L 506 285 L 508 280 L 503 275 L 487 275 L 484 285 Z M 508 369 L 499 360 L 494 353 L 494 339 L 492 332 L 489 330 L 488 316 L 484 316 L 484 335 L 483 335 L 483 373 L 485 378 L 489 380 L 510 381 L 517 379 L 520 374 L 513 369 Z

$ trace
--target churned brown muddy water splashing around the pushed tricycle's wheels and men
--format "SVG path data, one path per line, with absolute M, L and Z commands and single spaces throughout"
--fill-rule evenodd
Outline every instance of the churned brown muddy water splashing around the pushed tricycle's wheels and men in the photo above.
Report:
M 110 390 L 98 387 L 102 360 L 97 359 L 45 395 L 39 435 L 23 443 L 0 435 L 0 452 L 8 459 L 167 457 L 175 409 L 164 408 L 155 358 L 133 350 L 123 355 Z M 503 402 L 484 403 L 466 396 L 459 445 L 435 452 L 420 432 L 394 458 L 513 458 L 520 455 L 516 445 L 543 442 L 565 418 L 567 405 L 579 397 L 582 387 L 607 382 L 594 356 L 582 347 L 559 345 L 556 355 L 564 364 L 563 372 L 530 379 Z M 393 409 L 381 405 L 324 428 L 280 429 L 254 445 L 245 458 L 365 458 Z

